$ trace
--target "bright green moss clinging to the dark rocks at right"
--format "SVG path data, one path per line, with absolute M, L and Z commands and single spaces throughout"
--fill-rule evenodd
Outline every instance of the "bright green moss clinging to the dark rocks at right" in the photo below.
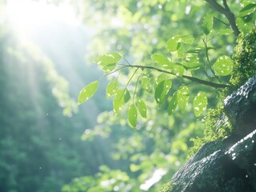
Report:
M 232 58 L 234 70 L 230 77 L 229 86 L 220 93 L 221 100 L 224 100 L 256 74 L 256 27 L 249 34 L 241 34 L 238 37 Z M 193 155 L 205 142 L 225 138 L 231 133 L 232 126 L 224 114 L 223 104 L 215 110 L 209 110 L 205 117 L 204 138 L 191 139 L 194 145 L 190 149 L 189 155 Z

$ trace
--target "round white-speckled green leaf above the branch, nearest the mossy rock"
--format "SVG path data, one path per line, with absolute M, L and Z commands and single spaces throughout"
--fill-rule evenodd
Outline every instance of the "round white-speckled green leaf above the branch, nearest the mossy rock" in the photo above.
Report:
M 232 59 L 226 55 L 217 58 L 217 61 L 213 65 L 213 70 L 219 76 L 226 76 L 231 74 L 233 70 Z

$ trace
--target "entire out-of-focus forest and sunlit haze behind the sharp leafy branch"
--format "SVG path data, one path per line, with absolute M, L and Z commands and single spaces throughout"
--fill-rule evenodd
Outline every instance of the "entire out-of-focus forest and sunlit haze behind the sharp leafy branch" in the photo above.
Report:
M 168 54 L 172 35 L 201 34 L 210 11 L 189 0 L 1 0 L 0 191 L 158 191 L 187 159 L 190 138 L 203 134 L 192 106 L 169 116 L 148 91 L 148 119 L 134 129 L 125 109 L 115 116 L 105 98 L 111 77 L 84 105 L 76 99 L 103 76 L 92 62 L 100 54 L 146 65 L 150 54 Z M 234 38 L 212 44 L 213 60 L 232 53 Z M 120 74 L 124 85 L 128 72 Z

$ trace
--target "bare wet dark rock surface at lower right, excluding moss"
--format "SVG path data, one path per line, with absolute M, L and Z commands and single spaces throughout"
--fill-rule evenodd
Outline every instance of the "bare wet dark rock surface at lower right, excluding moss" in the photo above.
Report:
M 235 137 L 208 142 L 176 174 L 173 192 L 256 191 L 256 76 L 225 101 Z

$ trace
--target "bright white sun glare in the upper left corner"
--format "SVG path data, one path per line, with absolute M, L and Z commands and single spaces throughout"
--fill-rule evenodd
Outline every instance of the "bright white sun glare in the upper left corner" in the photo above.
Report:
M 6 3 L 8 22 L 18 33 L 30 35 L 56 22 L 78 26 L 79 19 L 67 3 L 59 6 L 46 1 L 8 0 Z

